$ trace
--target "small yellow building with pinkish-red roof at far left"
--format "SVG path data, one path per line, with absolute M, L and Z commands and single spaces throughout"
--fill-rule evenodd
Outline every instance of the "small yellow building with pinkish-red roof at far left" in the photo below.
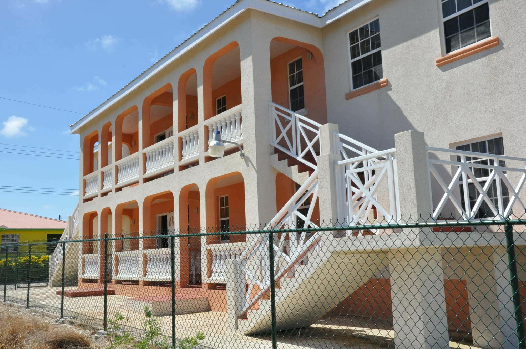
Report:
M 8 247 L 10 244 L 27 243 L 29 241 L 58 241 L 67 222 L 39 215 L 0 209 L 0 251 L 18 251 L 18 247 Z M 28 247 L 20 248 L 27 251 Z M 51 254 L 55 244 L 35 245 L 34 253 Z

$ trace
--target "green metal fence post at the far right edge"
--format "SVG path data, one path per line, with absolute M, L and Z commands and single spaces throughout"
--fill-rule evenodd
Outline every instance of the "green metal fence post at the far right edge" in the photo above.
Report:
M 506 234 L 506 247 L 508 252 L 508 267 L 510 269 L 510 283 L 513 292 L 512 302 L 515 313 L 515 330 L 517 331 L 517 337 L 519 338 L 519 348 L 526 349 L 526 341 L 524 338 L 524 327 L 521 310 L 521 295 L 519 293 L 519 275 L 517 272 L 517 261 L 515 256 L 515 241 L 513 238 L 513 226 L 509 222 L 509 218 L 506 219 L 504 224 L 504 232 Z

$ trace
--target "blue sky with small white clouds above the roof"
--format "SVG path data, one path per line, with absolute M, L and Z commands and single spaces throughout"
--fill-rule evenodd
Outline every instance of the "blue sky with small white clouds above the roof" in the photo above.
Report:
M 0 97 L 87 113 L 234 1 L 2 0 Z M 320 14 L 339 2 L 284 1 Z M 56 151 L 36 148 L 78 151 L 78 136 L 70 135 L 68 126 L 82 115 L 2 98 L 0 151 L 25 149 L 45 156 Z M 78 183 L 78 160 L 0 152 L 0 208 L 67 217 L 78 201 L 76 194 L 3 189 L 71 192 Z

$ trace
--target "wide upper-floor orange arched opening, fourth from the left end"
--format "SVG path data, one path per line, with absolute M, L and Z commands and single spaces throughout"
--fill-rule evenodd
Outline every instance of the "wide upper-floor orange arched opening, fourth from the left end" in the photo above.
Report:
M 143 148 L 174 135 L 174 98 L 171 84 L 159 88 L 143 102 Z

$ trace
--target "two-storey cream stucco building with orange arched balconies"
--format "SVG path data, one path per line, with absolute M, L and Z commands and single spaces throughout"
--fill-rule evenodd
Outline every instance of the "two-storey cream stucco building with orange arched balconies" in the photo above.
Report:
M 78 234 L 159 235 L 110 244 L 112 288 L 137 296 L 169 294 L 170 249 L 162 235 L 171 229 L 420 215 L 438 220 L 449 212 L 477 220 L 523 212 L 526 27 L 518 23 L 525 15 L 519 0 L 350 0 L 323 16 L 240 0 L 71 126 L 80 135 L 82 159 Z M 211 157 L 208 143 L 216 131 L 241 144 L 245 157 L 235 145 L 226 146 L 224 157 Z M 470 151 L 487 156 L 473 159 Z M 363 233 L 327 239 L 342 243 L 366 238 Z M 313 239 L 288 240 L 281 252 L 289 262 L 280 271 L 309 252 Z M 330 241 L 325 245 L 337 244 Z M 247 281 L 239 308 L 226 301 L 228 260 L 263 248 L 261 241 L 232 235 L 175 244 L 178 293 L 207 297 L 209 309 L 229 312 L 232 329 L 242 333 L 269 328 L 265 310 L 251 310 L 264 301 L 257 280 Z M 83 245 L 79 288 L 100 287 L 100 251 L 98 243 Z M 498 258 L 504 257 L 490 260 Z M 309 263 L 320 271 L 329 260 L 313 256 Z M 473 271 L 443 268 L 432 258 L 397 268 L 442 285 L 428 290 L 437 300 L 438 322 L 420 316 L 413 326 L 403 317 L 422 315 L 426 295 L 409 304 L 392 297 L 393 321 L 406 334 L 397 336 L 397 346 L 416 330 L 424 347 L 446 341 L 426 335 L 448 326 L 446 315 L 439 316 L 443 288 L 448 280 L 474 280 Z M 254 276 L 264 268 L 254 269 L 242 272 Z M 387 276 L 363 271 L 347 287 L 383 278 L 390 279 L 384 291 L 407 290 L 407 280 L 393 274 L 399 269 L 391 270 Z M 441 276 L 433 279 L 443 273 L 446 284 Z M 309 275 L 296 277 L 316 290 Z M 281 301 L 308 291 L 282 292 Z M 314 304 L 317 315 L 307 307 L 297 316 L 307 323 L 341 301 L 321 310 Z M 396 311 L 402 306 L 405 312 Z M 485 311 L 502 315 L 507 308 Z M 238 321 L 246 314 L 253 321 Z M 480 329 L 477 316 L 471 311 L 473 341 L 499 347 L 501 326 Z M 280 328 L 298 323 L 288 321 Z

